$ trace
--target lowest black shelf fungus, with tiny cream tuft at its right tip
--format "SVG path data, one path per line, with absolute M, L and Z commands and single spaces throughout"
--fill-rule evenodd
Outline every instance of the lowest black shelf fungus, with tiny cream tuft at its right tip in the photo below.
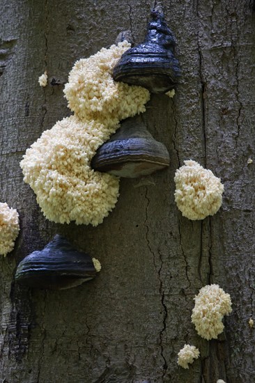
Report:
M 95 278 L 100 263 L 55 235 L 41 251 L 33 251 L 18 265 L 15 280 L 24 286 L 64 290 Z

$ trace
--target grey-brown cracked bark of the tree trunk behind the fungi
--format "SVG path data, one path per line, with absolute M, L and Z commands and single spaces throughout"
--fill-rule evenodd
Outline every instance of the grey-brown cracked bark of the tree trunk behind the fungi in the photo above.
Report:
M 167 171 L 122 179 L 116 208 L 96 228 L 47 221 L 19 163 L 40 134 L 70 114 L 63 84 L 79 58 L 131 29 L 141 42 L 154 1 L 1 0 L 1 195 L 17 208 L 15 251 L 1 259 L 0 378 L 5 383 L 228 383 L 255 381 L 255 16 L 249 1 L 162 1 L 178 40 L 182 78 L 173 99 L 152 95 L 143 118 L 169 149 Z M 38 77 L 47 70 L 49 84 Z M 54 81 L 52 81 L 54 79 Z M 224 183 L 222 208 L 190 221 L 173 177 L 194 159 Z M 255 159 L 255 158 L 254 158 Z M 65 235 L 102 263 L 70 290 L 14 283 L 17 263 Z M 218 283 L 233 312 L 217 341 L 191 322 L 194 295 Z M 184 370 L 185 343 L 201 357 Z

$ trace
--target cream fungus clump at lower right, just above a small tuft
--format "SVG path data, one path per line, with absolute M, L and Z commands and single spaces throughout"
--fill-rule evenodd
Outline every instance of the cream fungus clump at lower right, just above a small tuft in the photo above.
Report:
M 217 339 L 222 333 L 224 315 L 231 313 L 231 297 L 218 285 L 207 285 L 199 290 L 194 297 L 195 306 L 192 310 L 192 323 L 196 331 L 207 339 Z

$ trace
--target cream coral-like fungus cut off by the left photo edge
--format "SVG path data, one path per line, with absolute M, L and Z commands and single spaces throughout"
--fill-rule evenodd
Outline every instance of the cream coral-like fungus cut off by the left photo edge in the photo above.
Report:
M 19 214 L 17 210 L 9 208 L 7 203 L 0 203 L 0 254 L 2 256 L 6 256 L 7 253 L 13 250 L 19 231 Z

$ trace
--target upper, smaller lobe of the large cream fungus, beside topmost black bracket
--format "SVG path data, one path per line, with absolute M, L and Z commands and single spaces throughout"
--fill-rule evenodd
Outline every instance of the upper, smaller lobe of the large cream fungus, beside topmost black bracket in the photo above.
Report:
M 127 41 L 119 42 L 75 63 L 64 93 L 68 107 L 79 118 L 115 126 L 119 120 L 145 111 L 149 91 L 116 82 L 112 77 L 114 66 L 130 46 Z

